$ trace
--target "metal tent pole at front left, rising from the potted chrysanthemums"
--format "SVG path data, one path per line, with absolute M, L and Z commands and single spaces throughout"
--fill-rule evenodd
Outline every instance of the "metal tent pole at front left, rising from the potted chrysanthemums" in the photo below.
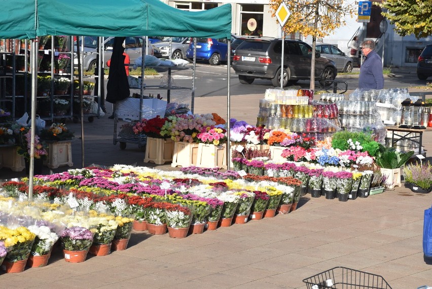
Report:
M 33 200 L 34 176 L 34 135 L 36 134 L 36 93 L 38 90 L 38 40 L 31 40 L 31 140 L 30 140 L 30 168 L 28 172 L 28 199 Z

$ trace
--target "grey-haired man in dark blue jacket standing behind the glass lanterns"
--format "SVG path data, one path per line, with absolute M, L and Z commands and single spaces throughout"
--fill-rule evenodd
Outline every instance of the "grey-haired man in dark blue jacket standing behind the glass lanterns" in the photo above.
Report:
M 381 57 L 374 51 L 375 42 L 371 40 L 362 43 L 362 53 L 366 56 L 358 76 L 358 88 L 363 90 L 383 89 L 384 76 L 382 75 Z

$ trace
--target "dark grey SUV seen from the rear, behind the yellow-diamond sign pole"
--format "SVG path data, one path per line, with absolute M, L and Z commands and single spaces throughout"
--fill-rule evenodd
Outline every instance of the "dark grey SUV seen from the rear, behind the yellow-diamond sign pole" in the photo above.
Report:
M 312 48 L 298 40 L 285 40 L 283 59 L 283 86 L 310 79 Z M 280 86 L 282 40 L 254 38 L 244 40 L 235 50 L 233 69 L 242 84 L 251 84 L 256 78 L 269 79 Z M 315 79 L 328 85 L 337 75 L 336 63 L 316 53 Z

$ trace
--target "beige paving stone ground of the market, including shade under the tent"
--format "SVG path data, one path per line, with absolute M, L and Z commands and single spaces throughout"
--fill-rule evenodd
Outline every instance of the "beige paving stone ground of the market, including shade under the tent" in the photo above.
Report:
M 262 95 L 231 99 L 231 117 L 255 124 Z M 196 113 L 226 116 L 226 96 L 196 98 Z M 143 163 L 136 144 L 113 144 L 114 121 L 85 120 L 85 165 Z M 80 135 L 79 124 L 67 123 Z M 423 144 L 432 151 L 432 133 Z M 428 158 L 430 159 L 430 158 Z M 73 140 L 74 167 L 81 167 L 81 140 Z M 156 166 L 173 169 L 169 164 Z M 54 171 L 63 171 L 60 167 Z M 49 169 L 45 168 L 45 173 Z M 0 169 L 0 178 L 24 176 Z M 348 202 L 301 198 L 299 207 L 244 225 L 172 239 L 132 232 L 128 248 L 70 264 L 56 248 L 48 266 L 0 273 L 1 288 L 306 288 L 304 278 L 344 266 L 378 274 L 392 288 L 432 286 L 432 263 L 423 260 L 423 211 L 432 194 L 402 187 Z

